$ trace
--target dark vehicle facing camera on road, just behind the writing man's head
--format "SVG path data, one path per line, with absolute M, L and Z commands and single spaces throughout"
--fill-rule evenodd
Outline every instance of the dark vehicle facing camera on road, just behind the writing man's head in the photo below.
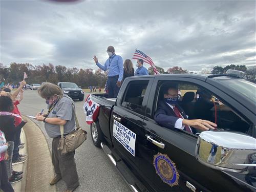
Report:
M 63 93 L 70 96 L 72 99 L 79 99 L 80 101 L 84 98 L 84 92 L 81 87 L 78 87 L 76 83 L 73 82 L 58 82 L 59 86 Z

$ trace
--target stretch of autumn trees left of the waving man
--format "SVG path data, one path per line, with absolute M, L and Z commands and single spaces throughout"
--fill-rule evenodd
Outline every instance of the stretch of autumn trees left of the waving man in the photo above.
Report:
M 82 88 L 89 86 L 104 87 L 107 75 L 102 70 L 67 68 L 65 66 L 48 65 L 33 66 L 30 63 L 11 63 L 10 67 L 0 63 L 0 78 L 5 79 L 6 83 L 18 83 L 23 79 L 24 72 L 28 78 L 26 82 L 42 83 L 52 82 L 74 82 Z

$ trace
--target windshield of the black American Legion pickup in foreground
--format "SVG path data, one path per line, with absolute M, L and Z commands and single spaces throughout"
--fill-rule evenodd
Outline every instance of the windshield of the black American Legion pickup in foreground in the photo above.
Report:
M 228 86 L 240 94 L 244 95 L 252 102 L 256 100 L 256 84 L 245 80 L 222 81 L 225 86 Z

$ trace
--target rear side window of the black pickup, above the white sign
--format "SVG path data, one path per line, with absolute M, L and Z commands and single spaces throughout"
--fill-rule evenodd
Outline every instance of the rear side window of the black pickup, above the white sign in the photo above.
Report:
M 121 106 L 144 115 L 142 102 L 146 92 L 147 84 L 148 81 L 131 81 L 126 87 Z

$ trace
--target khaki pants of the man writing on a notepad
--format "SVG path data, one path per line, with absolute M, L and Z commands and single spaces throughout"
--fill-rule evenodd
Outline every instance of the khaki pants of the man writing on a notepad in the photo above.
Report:
M 68 189 L 75 188 L 78 184 L 78 175 L 75 163 L 75 151 L 61 155 L 61 151 L 57 150 L 60 138 L 52 140 L 52 163 L 57 176 L 61 176 L 66 182 Z

